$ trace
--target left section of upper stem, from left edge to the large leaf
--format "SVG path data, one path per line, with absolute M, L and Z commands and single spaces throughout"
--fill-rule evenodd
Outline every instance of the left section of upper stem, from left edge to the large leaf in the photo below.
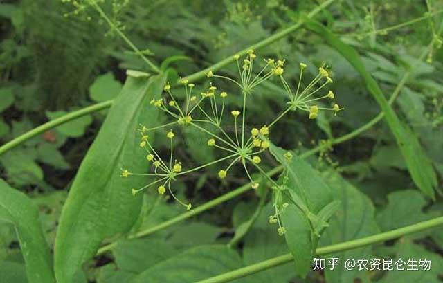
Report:
M 21 136 L 18 136 L 17 138 L 11 140 L 10 142 L 2 145 L 0 147 L 0 155 L 7 152 L 10 149 L 12 149 L 13 147 L 20 145 L 21 143 L 24 143 L 26 140 L 33 138 L 34 136 L 42 134 L 44 131 L 48 131 L 49 129 L 52 129 L 54 127 L 62 125 L 65 122 L 69 122 L 69 121 L 74 120 L 76 118 L 80 118 L 80 117 L 87 115 L 89 113 L 93 113 L 93 112 L 100 111 L 102 109 L 111 107 L 112 102 L 113 102 L 113 100 L 108 100 L 105 102 L 93 104 L 89 107 L 85 107 L 83 109 L 73 111 L 71 113 L 67 113 L 66 115 L 64 115 L 60 118 L 48 121 L 48 122 L 44 123 L 43 125 L 40 125 L 39 127 L 36 127 L 35 129 L 27 131 L 25 134 L 22 134 Z

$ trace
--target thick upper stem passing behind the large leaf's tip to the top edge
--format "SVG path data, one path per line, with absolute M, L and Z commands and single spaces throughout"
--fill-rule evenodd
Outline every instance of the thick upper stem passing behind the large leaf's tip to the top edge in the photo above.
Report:
M 300 26 L 302 26 L 302 24 L 305 24 L 305 22 L 306 22 L 308 19 L 314 17 L 316 14 L 318 14 L 318 12 L 320 12 L 321 10 L 327 8 L 327 6 L 329 6 L 330 4 L 332 4 L 332 2 L 334 2 L 334 0 L 327 0 L 327 1 L 323 2 L 320 6 L 314 8 L 313 10 L 311 10 L 311 12 L 309 12 L 309 14 L 307 15 L 307 17 L 305 17 L 305 19 L 303 19 L 303 20 L 298 21 L 297 24 L 294 24 L 293 26 L 290 26 L 289 28 L 286 28 L 286 29 L 280 31 L 280 33 L 275 33 L 274 35 L 271 35 L 270 37 L 267 37 L 266 39 L 262 40 L 261 42 L 257 42 L 256 44 L 253 44 L 253 45 L 251 45 L 251 46 L 248 46 L 247 48 L 244 48 L 244 49 L 243 49 L 242 51 L 240 51 L 238 54 L 239 54 L 239 55 L 244 55 L 244 54 L 246 54 L 246 52 L 247 52 L 249 49 L 255 49 L 255 50 L 257 50 L 257 49 L 263 48 L 264 46 L 269 45 L 269 44 L 272 44 L 272 43 L 275 42 L 276 40 L 278 40 L 278 39 L 280 39 L 280 38 L 282 38 L 282 37 L 288 35 L 289 33 L 292 33 L 294 30 L 297 30 L 298 28 L 300 28 Z M 119 32 L 118 29 L 116 29 L 116 30 Z M 121 33 L 121 32 L 120 32 L 120 33 Z M 123 34 L 123 33 L 121 33 L 121 34 Z M 121 35 L 120 35 L 120 36 L 121 36 Z M 129 39 L 127 39 L 127 37 L 126 37 L 124 34 L 123 34 L 123 39 L 125 39 L 125 42 L 126 42 L 126 40 L 129 41 Z M 128 43 L 128 42 L 127 42 L 127 43 Z M 128 43 L 128 44 L 129 44 L 129 43 Z M 136 46 L 134 46 L 134 47 L 132 47 L 132 48 L 136 48 Z M 143 55 L 143 54 L 142 54 L 142 55 Z M 213 64 L 212 66 L 210 66 L 210 67 L 208 67 L 208 68 L 206 68 L 206 69 L 204 69 L 204 70 L 202 70 L 202 71 L 199 71 L 199 72 L 197 72 L 197 73 L 194 73 L 194 74 L 192 74 L 192 75 L 189 75 L 188 77 L 183 77 L 183 79 L 189 80 L 189 82 L 195 82 L 196 80 L 199 80 L 201 77 L 204 77 L 204 76 L 205 76 L 205 73 L 207 73 L 208 71 L 210 71 L 210 70 L 212 70 L 212 71 L 216 71 L 216 70 L 218 70 L 218 69 L 220 69 L 220 68 L 222 68 L 222 67 L 224 67 L 224 66 L 230 64 L 230 63 L 233 62 L 233 61 L 234 61 L 234 58 L 233 58 L 232 56 L 231 56 L 231 57 L 228 57 L 228 58 L 226 58 L 225 60 L 221 60 L 220 62 L 218 62 L 218 63 L 216 63 L 216 64 Z M 154 66 L 153 69 L 156 70 L 156 67 Z M 25 133 L 24 135 L 19 136 L 19 137 L 15 138 L 14 140 L 11 140 L 11 141 L 10 141 L 9 143 L 7 143 L 6 145 L 1 146 L 1 147 L 0 147 L 0 155 L 3 154 L 4 152 L 8 151 L 9 149 L 12 149 L 12 147 L 17 146 L 17 145 L 19 145 L 20 143 L 24 143 L 24 142 L 25 142 L 26 140 L 28 140 L 29 138 L 33 138 L 34 136 L 36 136 L 37 134 L 40 134 L 40 133 L 42 132 L 42 131 L 37 131 L 37 132 L 36 132 L 36 131 L 35 131 L 36 129 L 40 129 L 41 127 L 44 127 L 44 130 L 43 130 L 43 131 L 46 131 L 46 130 L 51 129 L 51 128 L 55 127 L 55 126 L 61 125 L 61 124 L 63 124 L 64 122 L 67 122 L 67 121 L 69 121 L 69 120 L 73 120 L 73 119 L 75 119 L 75 118 L 80 118 L 81 116 L 86 115 L 86 114 L 88 114 L 88 113 L 91 113 L 91 112 L 94 112 L 94 111 L 100 111 L 101 109 L 104 109 L 104 108 L 110 107 L 111 104 L 112 104 L 112 101 L 113 101 L 113 100 L 108 100 L 108 101 L 105 101 L 105 102 L 101 102 L 101 103 L 98 103 L 98 104 L 94 104 L 94 105 L 92 105 L 92 106 L 90 106 L 90 107 L 86 107 L 86 108 L 84 108 L 84 109 L 80 109 L 80 110 L 76 111 L 75 113 L 78 113 L 78 115 L 75 116 L 74 118 L 71 118 L 71 117 L 70 117 L 70 118 L 60 117 L 60 118 L 58 118 L 58 119 L 56 119 L 56 120 L 57 120 L 57 121 L 61 121 L 61 122 L 58 122 L 58 123 L 56 123 L 56 124 L 51 124 L 50 122 L 48 122 L 48 123 L 46 123 L 46 124 L 44 124 L 44 125 L 41 125 L 41 126 L 35 128 L 35 129 L 31 130 L 31 131 L 28 131 L 28 132 Z M 91 109 L 92 109 L 92 110 L 91 110 Z M 74 113 L 74 112 L 73 112 L 73 113 Z M 67 114 L 67 115 L 70 115 L 70 114 Z M 55 120 L 53 120 L 53 121 L 55 121 Z M 51 122 L 52 122 L 52 121 L 51 121 Z M 7 146 L 7 147 L 6 147 L 6 146 Z

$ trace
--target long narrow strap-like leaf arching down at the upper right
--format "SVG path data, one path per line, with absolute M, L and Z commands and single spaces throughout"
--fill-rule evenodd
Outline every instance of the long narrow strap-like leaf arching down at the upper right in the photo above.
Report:
M 318 33 L 333 48 L 343 55 L 358 71 L 366 83 L 370 93 L 374 96 L 385 114 L 386 121 L 397 140 L 397 144 L 403 154 L 406 165 L 417 187 L 426 195 L 435 198 L 434 188 L 437 186 L 437 176 L 433 170 L 431 162 L 424 153 L 417 137 L 413 132 L 402 123 L 395 114 L 390 104 L 386 100 L 377 82 L 372 78 L 370 73 L 366 71 L 365 66 L 359 56 L 359 53 L 345 43 L 343 43 L 336 35 L 331 33 L 327 28 L 311 21 L 307 24 L 307 28 Z

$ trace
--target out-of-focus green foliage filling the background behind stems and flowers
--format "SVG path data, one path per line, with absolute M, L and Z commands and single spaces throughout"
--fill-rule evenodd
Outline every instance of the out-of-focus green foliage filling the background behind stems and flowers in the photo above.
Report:
M 150 3 L 131 0 L 116 14 L 107 3 L 104 8 L 154 62 L 162 62 L 174 55 L 189 57 L 190 60 L 171 64 L 179 75 L 184 76 L 302 19 L 320 2 L 225 0 L 207 5 L 206 1 L 199 0 Z M 386 98 L 390 97 L 401 77 L 409 73 L 393 108 L 401 122 L 408 125 L 413 136 L 419 139 L 439 180 L 435 201 L 418 190 L 395 136 L 384 120 L 352 140 L 310 156 L 307 161 L 320 172 L 323 181 L 342 202 L 321 237 L 320 245 L 373 235 L 442 214 L 441 43 L 439 46 L 437 40 L 424 60 L 417 59 L 437 38 L 435 33 L 442 14 L 392 29 L 386 35 L 374 33 L 374 29 L 423 17 L 429 8 L 431 12 L 437 12 L 443 9 L 443 1 L 363 0 L 357 4 L 356 1 L 343 0 L 336 1 L 317 16 L 343 42 L 356 48 L 365 69 L 377 80 Z M 71 6 L 55 0 L 0 3 L 2 144 L 69 111 L 116 98 L 123 89 L 126 69 L 149 71 L 93 10 L 64 17 L 71 10 Z M 345 107 L 338 116 L 320 116 L 314 122 L 300 113 L 284 118 L 273 130 L 272 141 L 285 149 L 306 152 L 322 140 L 342 136 L 365 125 L 380 111 L 359 73 L 338 51 L 327 46 L 322 37 L 309 30 L 296 30 L 257 53 L 260 57 L 286 58 L 285 77 L 292 84 L 298 78 L 298 62 L 309 65 L 310 77 L 316 73 L 314 66 L 327 63 L 334 77 L 332 89 L 337 93 L 338 103 Z M 235 68 L 227 66 L 224 71 L 233 73 Z M 230 93 L 235 91 L 232 86 L 221 86 Z M 262 125 L 282 109 L 282 89 L 271 81 L 261 86 L 255 95 L 254 103 L 248 108 L 251 114 L 248 124 Z M 228 107 L 239 107 L 241 103 L 239 98 L 233 97 L 228 100 Z M 51 253 L 73 179 L 107 112 L 102 110 L 68 122 L 0 155 L 1 177 L 21 192 L 15 199 L 24 198 L 24 194 L 30 198 L 30 201 L 25 198 L 25 203 L 30 203 L 30 210 L 21 217 L 39 219 L 41 223 L 42 235 L 33 227 L 28 232 L 36 234 L 30 238 L 42 237 Z M 158 122 L 162 119 L 160 116 Z M 206 136 L 189 131 L 186 140 L 176 147 L 178 156 L 186 163 L 204 163 L 217 156 L 217 152 L 201 146 L 199 140 L 206 140 Z M 156 139 L 156 147 L 168 152 L 163 143 L 161 138 Z M 266 157 L 266 169 L 278 165 L 271 154 Z M 143 160 L 143 155 L 134 158 Z M 181 180 L 176 185 L 181 197 L 198 207 L 247 183 L 241 171 L 230 174 L 223 182 L 215 177 L 215 172 L 217 168 L 210 167 Z M 0 220 L 9 219 L 0 221 L 0 274 L 6 276 L 4 282 L 28 282 L 25 259 L 21 255 L 25 250 L 19 245 L 24 239 L 15 234 L 15 229 L 19 228 L 14 225 L 17 221 L 14 219 L 19 216 L 9 211 L 8 217 L 3 217 L 8 185 L 0 185 L 1 193 L 5 194 L 0 194 Z M 134 231 L 152 228 L 183 213 L 177 203 L 157 199 L 154 192 L 143 194 L 141 201 L 143 206 L 132 227 Z M 192 282 L 288 253 L 284 239 L 278 237 L 275 227 L 267 223 L 271 205 L 268 203 L 254 213 L 258 203 L 257 194 L 248 191 L 222 206 L 215 206 L 147 237 L 120 239 L 115 248 L 89 259 L 80 266 L 82 271 L 75 273 L 81 274 L 78 275 L 79 282 Z M 251 229 L 237 243 L 228 245 L 242 223 L 251 217 L 256 217 L 256 221 L 251 222 Z M 442 235 L 442 228 L 437 228 L 336 255 L 342 259 L 427 257 L 433 260 L 433 271 L 426 275 L 338 270 L 313 271 L 306 280 L 301 280 L 296 276 L 293 264 L 289 263 L 239 281 L 441 282 Z M 104 240 L 112 242 L 116 239 Z

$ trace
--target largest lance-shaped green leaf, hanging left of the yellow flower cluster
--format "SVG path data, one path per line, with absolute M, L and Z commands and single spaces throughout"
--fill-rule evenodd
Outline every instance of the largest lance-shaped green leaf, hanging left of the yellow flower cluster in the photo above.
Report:
M 128 77 L 109 110 L 96 140 L 84 158 L 66 200 L 55 239 L 55 276 L 59 283 L 82 277 L 81 266 L 93 257 L 103 239 L 127 232 L 141 210 L 145 178 L 120 177 L 121 168 L 145 170 L 138 147 L 139 123 L 152 125 L 157 116 L 147 105 L 159 95 L 165 75 Z

